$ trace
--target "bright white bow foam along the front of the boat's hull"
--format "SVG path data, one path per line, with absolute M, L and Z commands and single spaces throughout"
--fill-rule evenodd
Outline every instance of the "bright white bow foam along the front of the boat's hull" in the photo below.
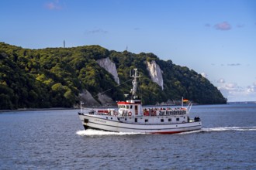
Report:
M 112 131 L 99 131 L 94 129 L 88 129 L 84 131 L 77 131 L 76 134 L 80 136 L 102 136 L 102 135 L 130 135 L 130 134 L 144 134 L 144 133 L 132 133 L 132 132 L 112 132 Z

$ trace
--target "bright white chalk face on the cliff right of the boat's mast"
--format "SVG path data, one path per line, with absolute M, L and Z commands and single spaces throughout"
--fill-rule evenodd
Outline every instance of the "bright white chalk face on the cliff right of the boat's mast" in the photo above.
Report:
M 151 62 L 147 62 L 147 70 L 150 73 L 151 80 L 161 86 L 162 90 L 164 90 L 164 80 L 160 66 L 153 60 Z

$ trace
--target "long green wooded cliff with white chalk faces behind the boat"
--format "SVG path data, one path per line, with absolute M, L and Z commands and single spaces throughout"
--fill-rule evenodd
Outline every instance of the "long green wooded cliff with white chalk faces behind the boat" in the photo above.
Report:
M 101 46 L 23 49 L 0 42 L 0 109 L 74 107 L 125 100 L 130 70 L 140 73 L 143 104 L 182 97 L 198 104 L 226 104 L 206 78 L 153 53 L 116 52 Z M 102 93 L 104 92 L 104 93 Z

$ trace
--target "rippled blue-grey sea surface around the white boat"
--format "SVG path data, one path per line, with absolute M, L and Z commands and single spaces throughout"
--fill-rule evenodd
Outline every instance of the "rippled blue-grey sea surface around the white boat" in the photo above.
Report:
M 0 114 L 0 169 L 256 169 L 256 104 L 194 106 L 183 134 L 84 131 L 77 112 Z

